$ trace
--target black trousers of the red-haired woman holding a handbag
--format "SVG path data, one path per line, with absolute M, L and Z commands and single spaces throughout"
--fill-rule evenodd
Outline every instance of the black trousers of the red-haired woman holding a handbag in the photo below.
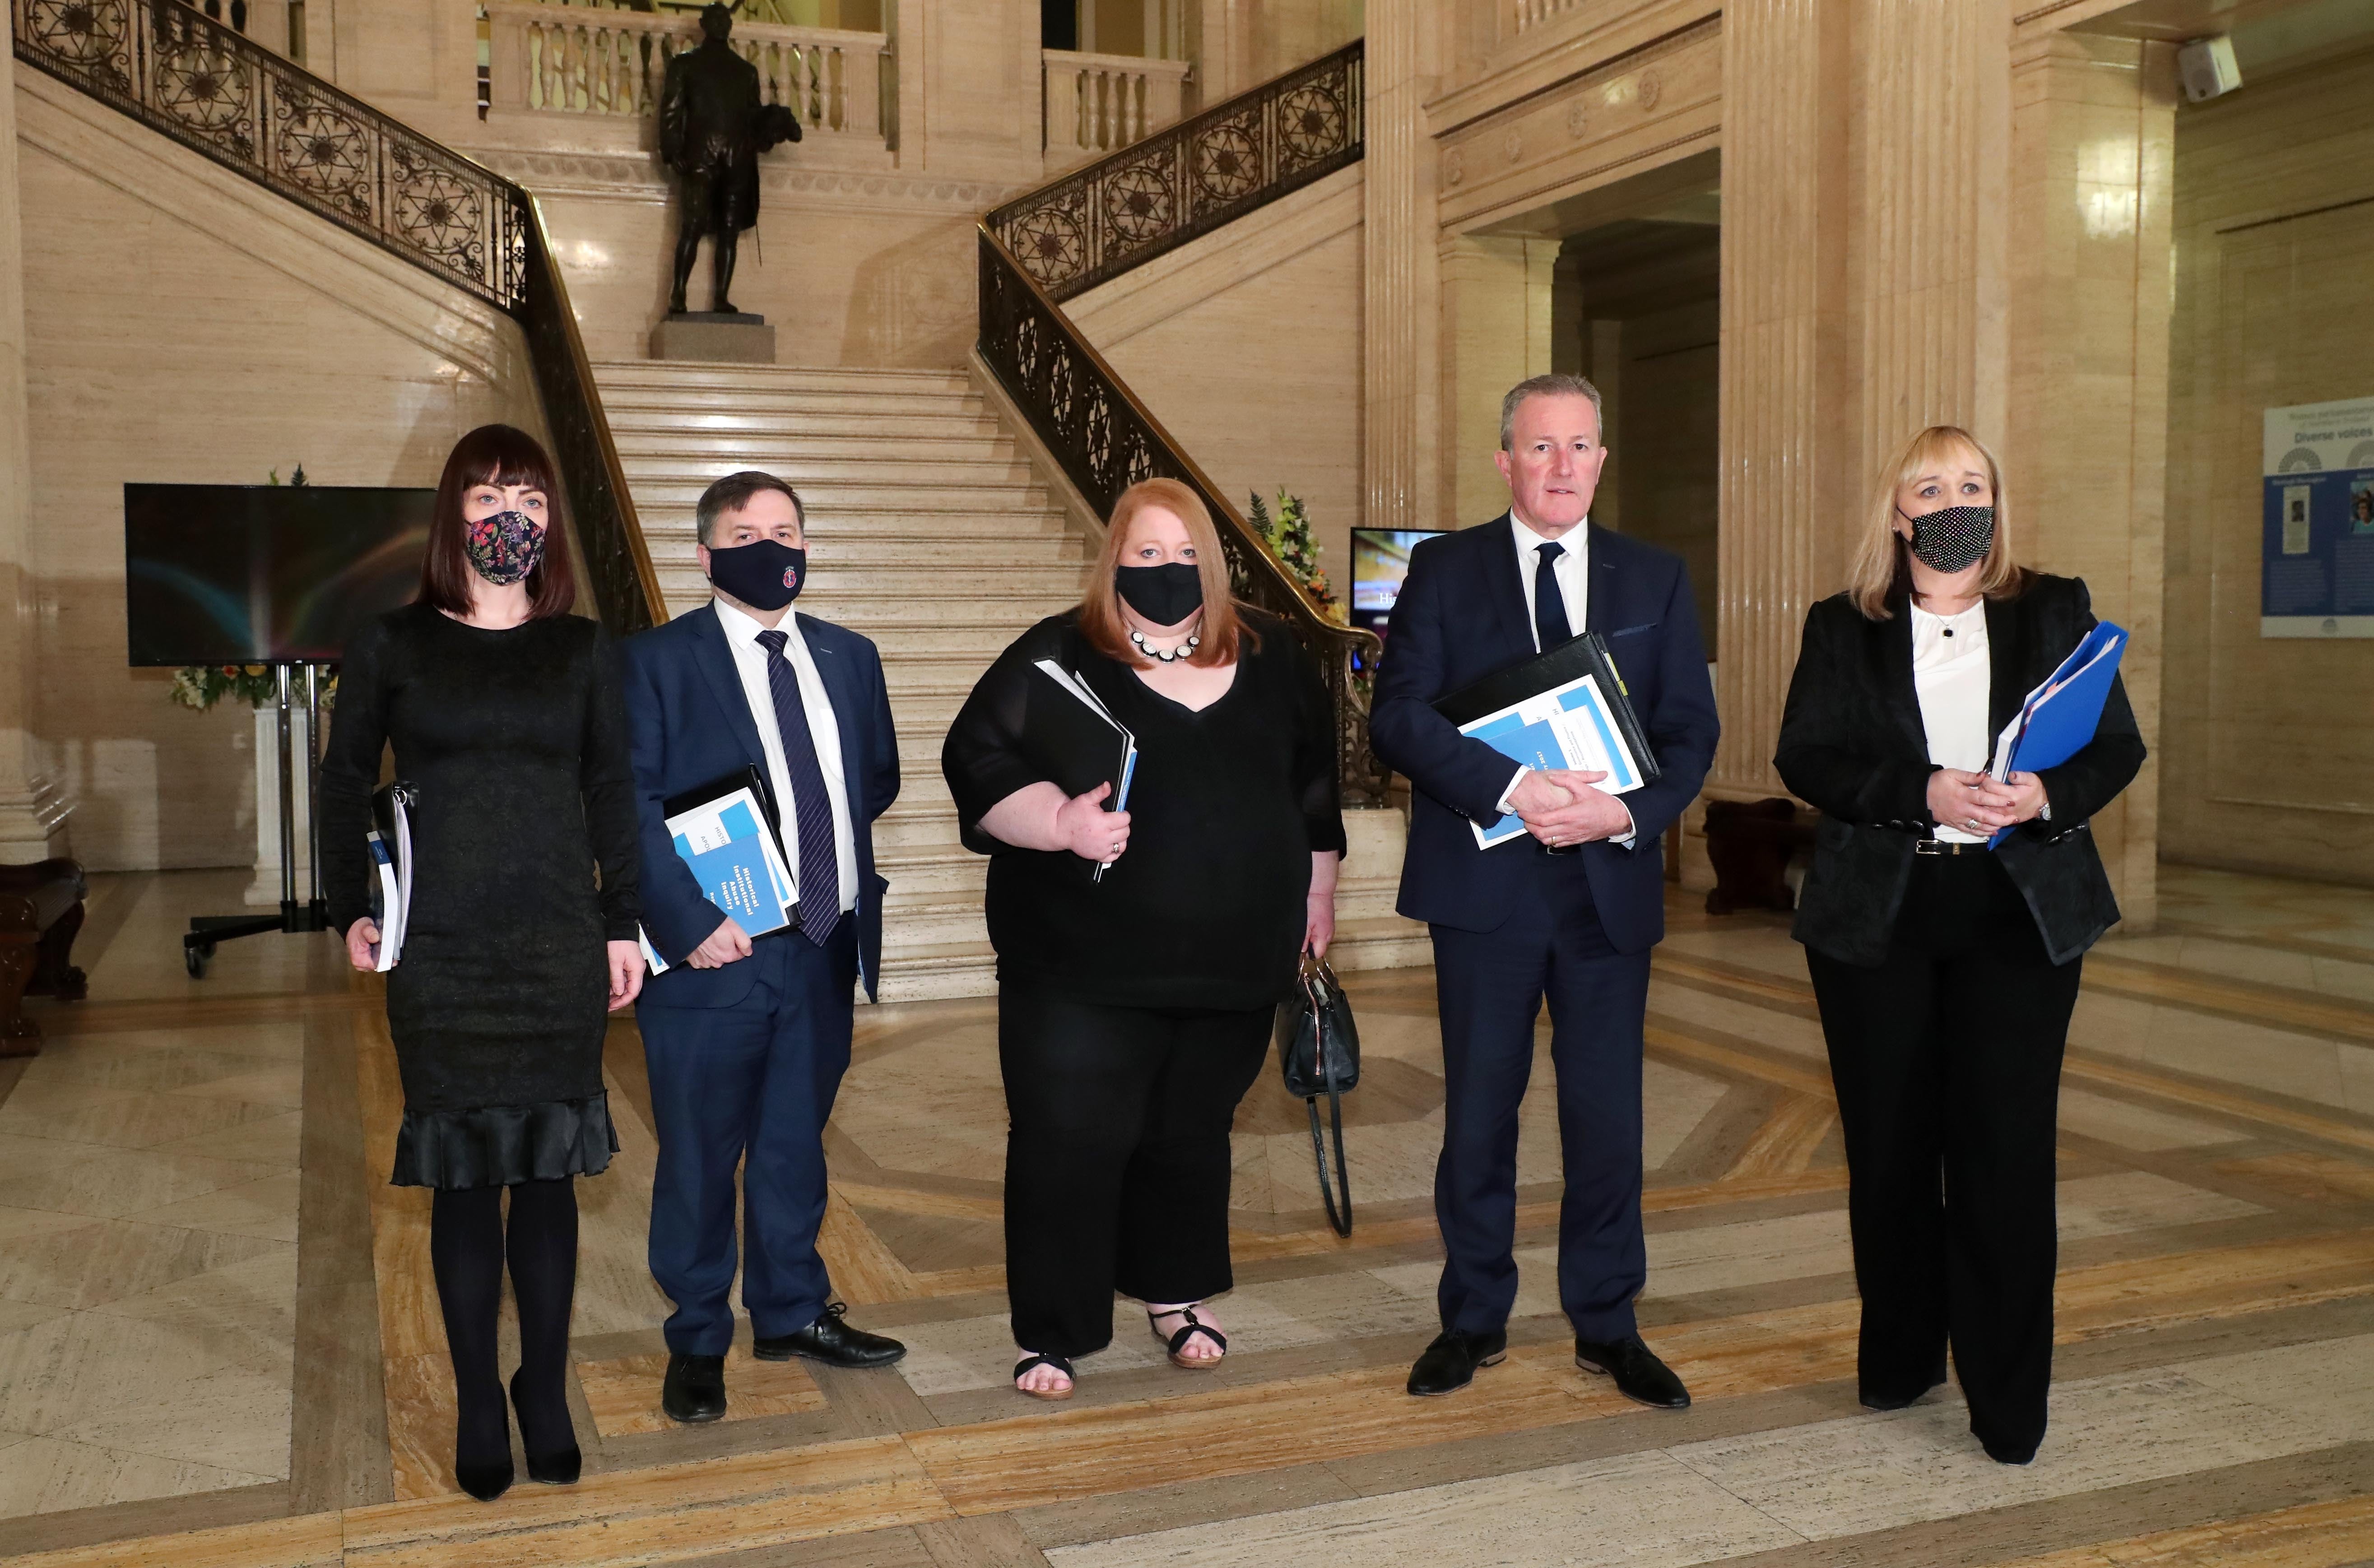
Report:
M 1087 1355 L 1113 1340 L 1113 1290 L 1194 1302 L 1234 1283 L 1227 1129 L 1275 1015 L 999 987 L 1016 1345 Z

